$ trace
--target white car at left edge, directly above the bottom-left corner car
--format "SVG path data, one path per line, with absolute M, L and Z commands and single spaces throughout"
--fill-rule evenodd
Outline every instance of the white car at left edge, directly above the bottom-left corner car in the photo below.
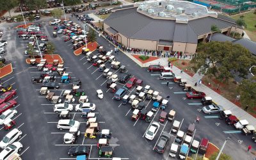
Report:
M 6 136 L 4 136 L 3 140 L 0 142 L 0 147 L 2 149 L 6 148 L 8 145 L 12 144 L 18 138 L 21 138 L 22 131 L 19 129 L 13 129 L 12 131 L 8 132 Z

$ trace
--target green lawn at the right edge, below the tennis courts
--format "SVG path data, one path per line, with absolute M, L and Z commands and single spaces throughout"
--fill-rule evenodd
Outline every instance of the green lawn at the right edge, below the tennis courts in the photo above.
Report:
M 253 41 L 256 41 L 256 28 L 254 27 L 256 25 L 256 15 L 253 14 L 254 10 L 252 12 L 242 13 L 239 15 L 233 15 L 231 16 L 233 19 L 239 19 L 241 15 L 244 16 L 244 21 L 247 25 L 245 28 L 246 33 Z

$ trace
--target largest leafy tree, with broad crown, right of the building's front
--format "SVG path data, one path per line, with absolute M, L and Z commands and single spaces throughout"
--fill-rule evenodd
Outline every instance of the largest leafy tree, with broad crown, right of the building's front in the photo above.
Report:
M 239 77 L 248 75 L 248 68 L 255 64 L 256 58 L 242 45 L 231 42 L 200 43 L 197 54 L 191 60 L 193 70 L 202 74 L 214 76 L 220 81 L 233 77 L 232 72 Z

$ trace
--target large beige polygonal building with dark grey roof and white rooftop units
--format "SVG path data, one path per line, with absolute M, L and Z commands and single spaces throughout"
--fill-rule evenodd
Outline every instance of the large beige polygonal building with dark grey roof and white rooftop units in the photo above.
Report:
M 104 20 L 104 31 L 125 47 L 192 54 L 198 42 L 211 34 L 214 24 L 224 35 L 235 29 L 243 33 L 234 20 L 209 12 L 205 6 L 163 0 L 113 8 Z

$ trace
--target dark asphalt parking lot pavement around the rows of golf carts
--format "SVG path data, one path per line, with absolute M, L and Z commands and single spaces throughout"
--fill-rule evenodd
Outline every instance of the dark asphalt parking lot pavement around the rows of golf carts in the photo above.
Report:
M 11 25 L 11 24 L 10 24 Z M 145 131 L 152 122 L 159 122 L 161 109 L 157 109 L 154 118 L 150 123 L 145 120 L 131 120 L 132 109 L 130 104 L 123 105 L 120 101 L 113 100 L 114 93 L 106 88 L 107 79 L 99 72 L 99 68 L 94 67 L 89 63 L 84 54 L 79 56 L 74 55 L 74 50 L 71 42 L 63 42 L 64 35 L 58 35 L 57 38 L 52 36 L 52 26 L 48 23 L 43 24 L 42 31 L 47 34 L 49 40 L 56 45 L 56 53 L 60 54 L 64 60 L 64 67 L 70 74 L 72 79 L 79 78 L 82 81 L 82 88 L 88 96 L 89 102 L 96 105 L 95 113 L 97 122 L 99 122 L 101 129 L 110 129 L 112 138 L 110 145 L 114 148 L 113 157 L 122 157 L 122 159 L 172 159 L 168 156 L 170 145 L 175 140 L 176 134 L 173 134 L 172 122 L 165 121 L 160 124 L 160 129 L 156 134 L 154 140 L 150 141 L 145 138 Z M 31 67 L 25 63 L 28 56 L 24 55 L 24 51 L 28 44 L 27 40 L 21 40 L 10 26 L 6 28 L 3 39 L 8 41 L 6 46 L 6 59 L 12 61 L 13 74 L 4 77 L 4 83 L 13 84 L 17 95 L 13 98 L 17 100 L 18 105 L 15 108 L 18 114 L 15 116 L 17 122 L 16 127 L 19 128 L 23 134 L 20 142 L 23 149 L 20 152 L 24 159 L 76 159 L 69 157 L 68 148 L 72 145 L 63 144 L 63 135 L 65 130 L 60 131 L 56 128 L 58 123 L 58 116 L 53 112 L 53 104 L 45 99 L 45 95 L 40 95 L 40 84 L 32 84 L 31 77 L 40 73 L 36 67 Z M 98 44 L 103 45 L 106 51 L 114 50 L 113 45 L 109 44 L 102 36 L 98 37 Z M 98 51 L 93 54 L 97 55 Z M 202 104 L 200 100 L 186 99 L 186 92 L 178 84 L 170 83 L 166 86 L 166 81 L 157 79 L 159 72 L 147 72 L 147 68 L 141 68 L 136 65 L 134 61 L 129 59 L 125 54 L 119 52 L 115 54 L 116 59 L 127 67 L 125 72 L 143 79 L 143 86 L 150 85 L 152 90 L 157 90 L 161 96 L 168 99 L 168 107 L 166 112 L 171 109 L 176 111 L 175 120 L 181 122 L 180 130 L 186 132 L 188 125 L 195 122 L 196 116 L 200 116 L 199 124 L 195 124 L 195 131 L 193 138 L 200 141 L 202 138 L 207 138 L 209 141 L 221 148 L 223 141 L 230 137 L 224 152 L 232 156 L 234 159 L 253 159 L 251 154 L 247 153 L 248 145 L 255 144 L 250 140 L 250 136 L 244 136 L 236 131 L 234 127 L 225 124 L 217 115 L 205 115 L 202 112 Z M 106 61 L 106 68 L 110 68 L 111 72 L 120 76 L 120 70 L 111 68 L 111 64 Z M 71 79 L 71 80 L 72 80 Z M 60 76 L 56 79 L 60 83 Z M 63 97 L 65 90 L 70 90 L 72 84 L 61 84 L 58 90 L 55 90 L 56 95 Z M 117 88 L 121 88 L 125 84 L 117 83 Z M 104 93 L 104 99 L 98 99 L 96 90 L 101 89 Z M 135 94 L 136 88 L 129 89 L 127 95 Z M 153 105 L 153 100 L 144 100 L 145 109 L 150 111 Z M 217 102 L 218 103 L 218 102 Z M 78 104 L 78 99 L 73 104 Z M 79 137 L 75 145 L 88 145 L 92 148 L 89 159 L 107 159 L 98 156 L 97 142 L 95 140 L 84 138 L 83 134 L 86 129 L 86 121 L 81 118 L 81 113 L 72 111 L 72 120 L 81 122 L 79 130 L 82 136 Z M 8 131 L 0 130 L 0 138 Z M 166 132 L 171 134 L 171 140 L 165 148 L 164 154 L 158 154 L 154 151 L 159 136 Z M 178 156 L 176 156 L 177 158 Z

